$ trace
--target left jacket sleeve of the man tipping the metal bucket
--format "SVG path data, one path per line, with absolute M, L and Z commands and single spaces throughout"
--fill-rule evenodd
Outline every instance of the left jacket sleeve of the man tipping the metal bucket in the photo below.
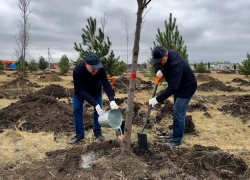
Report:
M 73 72 L 73 80 L 74 80 L 74 89 L 75 94 L 82 98 L 83 100 L 87 101 L 92 106 L 97 106 L 98 103 L 90 96 L 90 94 L 86 91 L 86 88 L 81 80 L 81 75 Z

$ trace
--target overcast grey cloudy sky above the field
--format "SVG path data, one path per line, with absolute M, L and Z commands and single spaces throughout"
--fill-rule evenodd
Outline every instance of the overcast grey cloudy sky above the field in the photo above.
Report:
M 63 54 L 76 60 L 79 54 L 74 50 L 74 42 L 82 43 L 82 28 L 87 25 L 87 18 L 96 18 L 100 27 L 100 19 L 106 13 L 105 32 L 112 42 L 111 49 L 127 62 L 125 21 L 128 22 L 131 52 L 137 6 L 136 0 L 33 0 L 29 6 L 32 43 L 28 51 L 36 61 L 39 55 L 48 59 L 48 48 L 55 62 Z M 164 21 L 168 21 L 169 13 L 177 18 L 191 63 L 201 60 L 241 62 L 250 53 L 249 0 L 152 0 L 147 10 L 141 31 L 139 63 L 151 57 L 150 47 L 156 39 L 157 28 L 165 30 Z M 15 60 L 18 20 L 21 16 L 17 0 L 0 0 L 2 60 Z M 131 62 L 132 56 L 128 59 L 128 63 Z

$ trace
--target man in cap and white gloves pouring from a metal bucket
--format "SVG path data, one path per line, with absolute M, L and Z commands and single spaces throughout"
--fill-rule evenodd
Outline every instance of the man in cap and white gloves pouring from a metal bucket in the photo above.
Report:
M 98 117 L 102 111 L 102 87 L 110 100 L 111 109 L 118 109 L 114 99 L 111 85 L 106 72 L 96 54 L 89 54 L 85 61 L 75 67 L 73 72 L 74 96 L 73 96 L 73 119 L 76 136 L 71 144 L 78 143 L 84 139 L 83 103 L 87 101 L 94 107 L 94 136 L 104 141 Z

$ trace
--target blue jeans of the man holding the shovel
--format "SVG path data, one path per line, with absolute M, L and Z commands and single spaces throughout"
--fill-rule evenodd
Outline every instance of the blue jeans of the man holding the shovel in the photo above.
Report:
M 174 97 L 174 124 L 172 142 L 181 143 L 185 132 L 187 107 L 192 96 L 187 99 Z

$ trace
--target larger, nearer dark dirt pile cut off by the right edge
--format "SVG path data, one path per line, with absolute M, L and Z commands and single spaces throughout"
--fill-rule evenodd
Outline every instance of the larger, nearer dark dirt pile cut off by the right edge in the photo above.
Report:
M 240 117 L 243 122 L 246 122 L 250 117 L 250 95 L 236 97 L 234 102 L 223 105 L 218 110 L 229 113 L 233 117 Z

